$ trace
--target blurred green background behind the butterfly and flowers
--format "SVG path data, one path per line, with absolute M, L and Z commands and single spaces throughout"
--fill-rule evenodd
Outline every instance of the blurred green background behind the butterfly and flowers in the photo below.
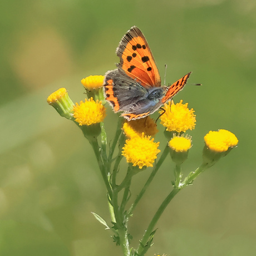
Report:
M 147 255 L 256 255 L 254 0 L 1 1 L 0 255 L 121 255 L 91 211 L 110 220 L 106 190 L 88 142 L 48 106 L 66 87 L 115 68 L 121 37 L 138 26 L 166 82 L 193 71 L 175 97 L 197 125 L 184 173 L 201 161 L 203 136 L 227 129 L 239 145 L 179 193 L 157 223 Z M 111 140 L 117 116 L 107 110 Z M 154 115 L 154 117 L 157 115 Z M 163 129 L 156 136 L 164 148 Z M 170 191 L 166 159 L 130 221 L 132 245 Z M 132 195 L 150 168 L 136 175 Z

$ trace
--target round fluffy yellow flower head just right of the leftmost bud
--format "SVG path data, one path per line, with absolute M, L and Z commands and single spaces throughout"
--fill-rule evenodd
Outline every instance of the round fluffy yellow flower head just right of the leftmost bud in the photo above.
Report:
M 92 99 L 80 101 L 80 105 L 76 103 L 73 107 L 75 121 L 79 125 L 93 125 L 102 122 L 106 116 L 106 109 L 101 101 L 96 102 Z

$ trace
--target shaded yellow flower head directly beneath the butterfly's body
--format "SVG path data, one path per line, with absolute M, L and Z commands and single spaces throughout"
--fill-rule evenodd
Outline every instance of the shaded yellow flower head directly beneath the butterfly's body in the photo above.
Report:
M 126 121 L 122 127 L 125 135 L 129 138 L 142 136 L 144 133 L 146 136 L 154 136 L 158 130 L 156 123 L 151 117 L 145 117 L 137 120 Z

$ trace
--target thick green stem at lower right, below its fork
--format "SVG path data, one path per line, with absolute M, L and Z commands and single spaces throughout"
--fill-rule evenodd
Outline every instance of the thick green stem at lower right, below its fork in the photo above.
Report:
M 156 211 L 154 217 L 152 218 L 149 227 L 146 229 L 146 232 L 140 242 L 140 245 L 137 249 L 137 254 L 140 256 L 145 255 L 147 249 L 149 249 L 150 244 L 147 244 L 151 233 L 153 232 L 153 229 L 155 228 L 155 225 L 157 221 L 159 220 L 160 216 L 163 214 L 166 206 L 170 203 L 171 199 L 174 198 L 174 196 L 180 191 L 180 189 L 173 189 L 171 193 L 165 198 L 163 203 L 160 205 L 158 210 Z

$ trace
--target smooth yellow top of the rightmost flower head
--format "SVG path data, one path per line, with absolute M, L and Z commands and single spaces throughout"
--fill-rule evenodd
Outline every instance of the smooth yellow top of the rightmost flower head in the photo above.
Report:
M 237 137 L 230 131 L 220 129 L 219 131 L 209 131 L 204 136 L 205 145 L 212 151 L 225 152 L 229 147 L 238 144 Z

